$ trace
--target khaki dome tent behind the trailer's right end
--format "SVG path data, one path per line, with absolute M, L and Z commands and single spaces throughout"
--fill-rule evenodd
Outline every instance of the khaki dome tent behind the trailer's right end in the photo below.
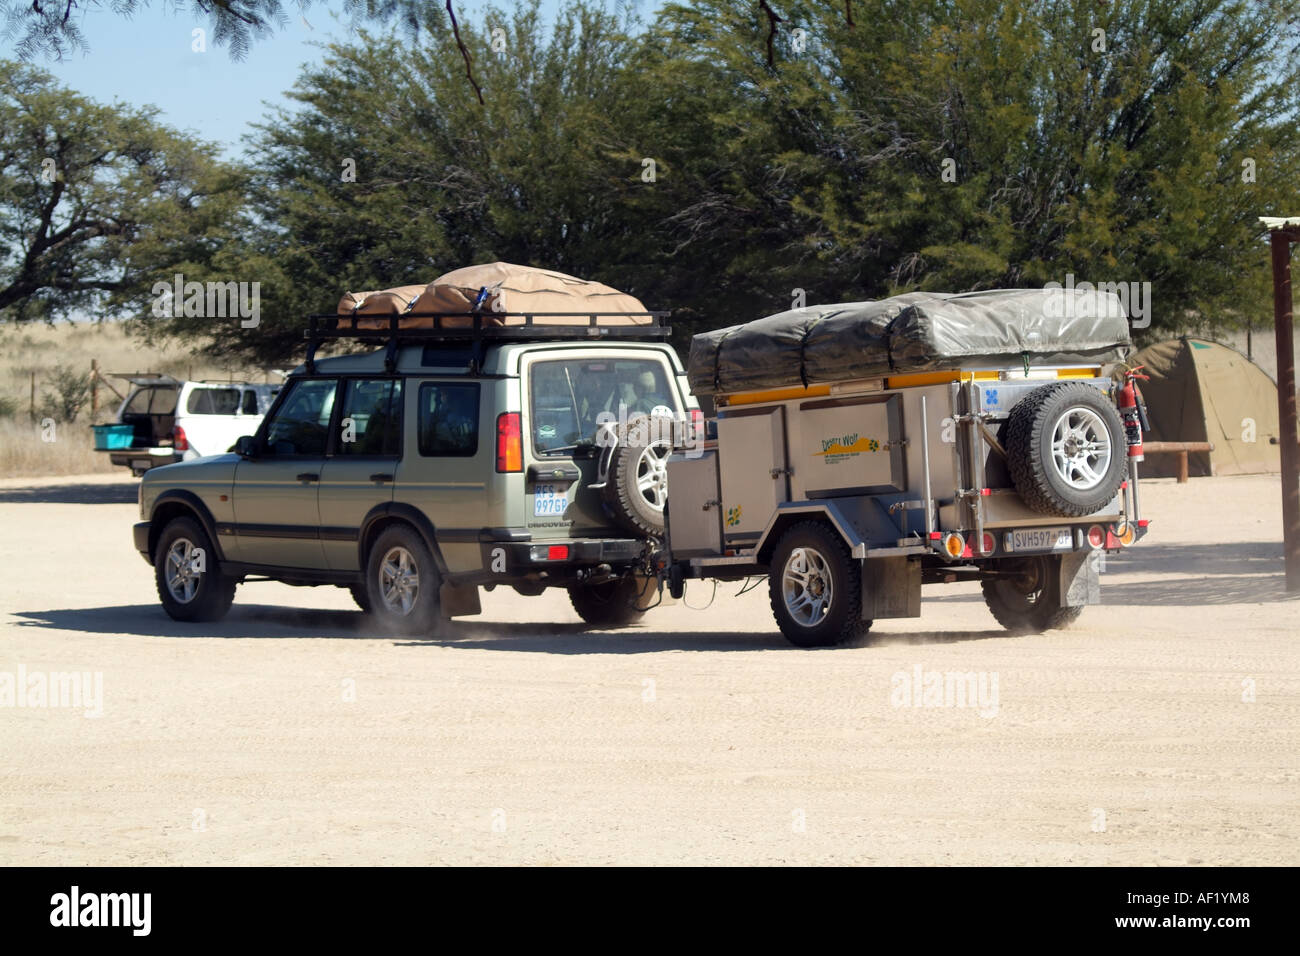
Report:
M 1150 381 L 1139 382 L 1150 419 L 1148 441 L 1209 441 L 1188 455 L 1190 475 L 1258 475 L 1280 470 L 1278 386 L 1235 349 L 1199 338 L 1171 338 L 1138 352 Z M 1171 477 L 1176 455 L 1148 455 L 1141 475 Z

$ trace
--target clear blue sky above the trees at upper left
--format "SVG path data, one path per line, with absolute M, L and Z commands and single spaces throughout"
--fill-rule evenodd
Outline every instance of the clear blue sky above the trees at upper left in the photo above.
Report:
M 543 14 L 554 17 L 558 4 L 559 0 L 542 0 Z M 640 9 L 645 17 L 659 5 L 659 0 L 642 0 Z M 70 53 L 62 61 L 38 60 L 36 65 L 101 103 L 121 100 L 159 107 L 169 126 L 220 143 L 226 156 L 234 159 L 243 152 L 242 137 L 265 116 L 265 103 L 285 104 L 283 92 L 294 85 L 300 66 L 320 60 L 316 44 L 338 40 L 348 33 L 347 21 L 335 13 L 342 7 L 337 1 L 313 4 L 306 14 L 298 13 L 296 4 L 286 7 L 294 12 L 285 27 L 256 40 L 239 62 L 230 59 L 225 47 L 212 44 L 211 36 L 207 52 L 194 52 L 191 31 L 209 29 L 207 20 L 188 12 L 169 12 L 155 0 L 131 20 L 103 7 L 82 13 L 90 51 Z M 456 17 L 467 22 L 481 18 L 484 7 L 464 0 L 454 3 Z M 0 56 L 12 55 L 12 44 L 0 43 Z

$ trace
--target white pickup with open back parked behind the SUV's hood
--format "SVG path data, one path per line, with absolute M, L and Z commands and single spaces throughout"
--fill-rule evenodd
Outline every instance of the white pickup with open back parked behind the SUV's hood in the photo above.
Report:
M 280 390 L 278 385 L 178 381 L 152 373 L 118 377 L 131 384 L 114 419 L 131 425 L 130 446 L 98 450 L 136 476 L 160 464 L 224 454 L 257 431 Z

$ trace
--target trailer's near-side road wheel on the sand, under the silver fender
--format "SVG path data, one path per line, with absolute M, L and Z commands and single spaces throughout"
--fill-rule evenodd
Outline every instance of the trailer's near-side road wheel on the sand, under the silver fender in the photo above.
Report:
M 822 522 L 802 522 L 781 536 L 767 584 L 776 623 L 796 646 L 848 644 L 871 628 L 862 619 L 862 572 Z

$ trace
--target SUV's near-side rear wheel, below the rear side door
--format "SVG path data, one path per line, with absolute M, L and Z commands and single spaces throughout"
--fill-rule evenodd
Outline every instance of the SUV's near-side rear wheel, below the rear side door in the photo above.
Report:
M 365 564 L 370 614 L 398 633 L 432 635 L 442 623 L 442 580 L 420 533 L 406 524 L 384 531 Z

